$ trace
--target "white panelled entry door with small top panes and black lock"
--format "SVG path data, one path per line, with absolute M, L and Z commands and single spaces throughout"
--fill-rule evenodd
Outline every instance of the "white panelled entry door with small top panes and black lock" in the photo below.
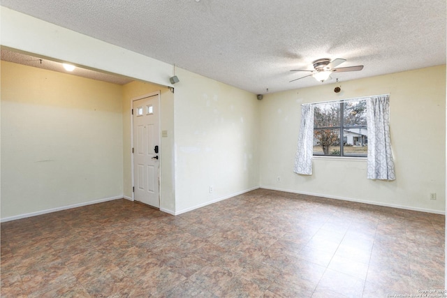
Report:
M 159 95 L 133 101 L 134 200 L 160 207 Z

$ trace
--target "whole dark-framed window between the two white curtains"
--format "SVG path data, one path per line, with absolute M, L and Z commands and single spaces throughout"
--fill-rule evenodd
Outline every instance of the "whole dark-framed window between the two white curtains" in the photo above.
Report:
M 314 156 L 367 157 L 366 100 L 314 105 Z

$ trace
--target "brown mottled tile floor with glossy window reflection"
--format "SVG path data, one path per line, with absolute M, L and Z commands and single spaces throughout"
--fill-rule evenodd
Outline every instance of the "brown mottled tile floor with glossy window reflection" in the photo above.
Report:
M 258 189 L 1 224 L 1 297 L 387 297 L 444 289 L 444 216 Z

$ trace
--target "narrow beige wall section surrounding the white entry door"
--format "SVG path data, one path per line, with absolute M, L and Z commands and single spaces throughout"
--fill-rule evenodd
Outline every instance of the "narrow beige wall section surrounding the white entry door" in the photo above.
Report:
M 171 214 L 175 213 L 174 186 L 174 94 L 167 87 L 147 82 L 131 82 L 123 87 L 123 168 L 124 195 L 132 198 L 132 170 L 131 170 L 131 100 L 155 91 L 160 91 L 161 128 L 167 131 L 168 137 L 161 137 L 160 165 L 161 165 L 161 200 L 160 209 Z

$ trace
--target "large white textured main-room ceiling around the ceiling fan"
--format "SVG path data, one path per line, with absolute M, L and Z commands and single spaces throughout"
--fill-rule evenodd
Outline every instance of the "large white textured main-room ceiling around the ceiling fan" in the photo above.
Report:
M 255 94 L 320 58 L 343 58 L 323 84 L 446 64 L 445 0 L 1 0 L 1 5 Z M 179 77 L 182 80 L 181 77 Z

